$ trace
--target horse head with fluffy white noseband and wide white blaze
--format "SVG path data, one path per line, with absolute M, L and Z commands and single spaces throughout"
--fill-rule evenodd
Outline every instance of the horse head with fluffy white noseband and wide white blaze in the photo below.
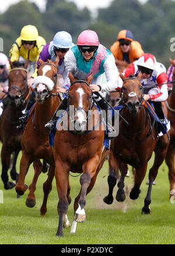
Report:
M 43 102 L 50 95 L 57 83 L 57 68 L 60 59 L 57 56 L 55 61 L 47 60 L 47 62 L 38 60 L 40 67 L 37 71 L 37 77 L 33 79 L 33 88 L 36 91 L 36 101 Z

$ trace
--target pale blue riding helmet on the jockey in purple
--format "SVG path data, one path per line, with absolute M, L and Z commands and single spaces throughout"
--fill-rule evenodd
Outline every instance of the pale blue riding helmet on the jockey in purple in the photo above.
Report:
M 53 44 L 57 48 L 71 48 L 72 36 L 65 31 L 57 32 L 54 36 Z

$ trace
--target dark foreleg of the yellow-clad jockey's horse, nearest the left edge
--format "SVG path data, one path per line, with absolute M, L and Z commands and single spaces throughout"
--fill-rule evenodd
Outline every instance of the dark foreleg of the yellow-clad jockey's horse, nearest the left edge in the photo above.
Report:
M 9 181 L 8 169 L 10 165 L 10 152 L 6 150 L 5 146 L 2 146 L 1 150 L 1 161 L 2 161 L 2 174 L 1 178 L 5 189 L 12 189 L 15 186 L 14 182 Z

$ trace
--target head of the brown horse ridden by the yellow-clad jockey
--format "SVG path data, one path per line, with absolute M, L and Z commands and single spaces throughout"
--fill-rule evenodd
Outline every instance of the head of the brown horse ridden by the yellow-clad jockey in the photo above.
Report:
M 8 96 L 10 98 L 10 104 L 17 106 L 22 105 L 24 102 L 29 88 L 27 87 L 27 66 L 26 63 L 20 63 L 19 61 L 9 61 L 11 70 L 9 72 L 9 89 Z

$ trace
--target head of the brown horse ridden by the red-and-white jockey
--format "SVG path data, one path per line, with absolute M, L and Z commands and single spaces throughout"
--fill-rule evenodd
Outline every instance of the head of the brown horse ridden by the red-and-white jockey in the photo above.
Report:
M 131 115 L 137 115 L 139 108 L 141 108 L 143 102 L 143 90 L 141 84 L 141 73 L 138 77 L 125 78 L 120 74 L 123 81 L 121 88 L 123 105 L 128 108 Z

